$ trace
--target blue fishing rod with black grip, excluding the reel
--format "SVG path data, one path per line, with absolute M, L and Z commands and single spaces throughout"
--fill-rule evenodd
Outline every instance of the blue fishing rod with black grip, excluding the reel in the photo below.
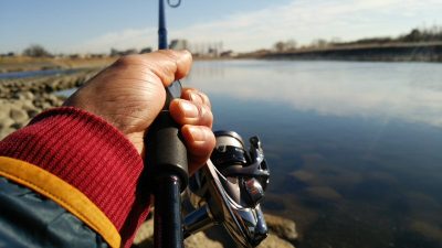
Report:
M 178 7 L 180 1 L 170 7 Z M 158 48 L 168 48 L 164 0 L 159 0 Z M 169 112 L 169 105 L 181 96 L 181 83 L 166 88 L 166 103 L 149 128 L 145 144 L 147 170 L 155 198 L 154 246 L 156 248 L 182 247 L 181 192 L 188 185 L 188 160 L 180 127 Z

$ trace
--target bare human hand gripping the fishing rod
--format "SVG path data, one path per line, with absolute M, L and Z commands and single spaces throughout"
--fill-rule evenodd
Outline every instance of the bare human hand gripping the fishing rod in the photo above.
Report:
M 165 87 L 185 77 L 192 63 L 187 51 L 157 51 L 125 56 L 102 71 L 73 94 L 64 106 L 84 109 L 119 129 L 144 157 L 144 136 L 166 100 Z M 209 98 L 185 88 L 169 106 L 181 125 L 192 174 L 209 159 L 215 143 Z

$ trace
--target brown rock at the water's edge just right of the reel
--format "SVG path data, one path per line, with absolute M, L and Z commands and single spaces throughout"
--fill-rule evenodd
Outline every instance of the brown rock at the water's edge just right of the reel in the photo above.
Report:
M 292 242 L 297 239 L 298 235 L 295 222 L 269 214 L 265 214 L 264 217 L 270 233 Z

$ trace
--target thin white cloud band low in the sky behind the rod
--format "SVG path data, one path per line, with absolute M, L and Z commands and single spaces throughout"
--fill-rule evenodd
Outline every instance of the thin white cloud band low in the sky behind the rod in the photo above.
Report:
M 222 41 L 224 48 L 251 51 L 281 40 L 309 43 L 314 39 L 354 40 L 398 35 L 417 25 L 441 23 L 440 0 L 296 0 L 285 6 L 234 13 L 222 20 L 173 30 L 171 37 L 194 43 Z M 82 51 L 155 46 L 156 29 L 124 30 L 95 37 Z

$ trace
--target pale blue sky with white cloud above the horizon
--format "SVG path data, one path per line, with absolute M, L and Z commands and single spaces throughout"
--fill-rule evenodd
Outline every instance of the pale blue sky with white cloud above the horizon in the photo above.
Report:
M 222 42 L 236 52 L 442 26 L 442 0 L 181 0 L 166 12 L 169 41 Z M 156 48 L 157 19 L 154 0 L 0 0 L 0 53 L 31 44 L 52 53 Z

